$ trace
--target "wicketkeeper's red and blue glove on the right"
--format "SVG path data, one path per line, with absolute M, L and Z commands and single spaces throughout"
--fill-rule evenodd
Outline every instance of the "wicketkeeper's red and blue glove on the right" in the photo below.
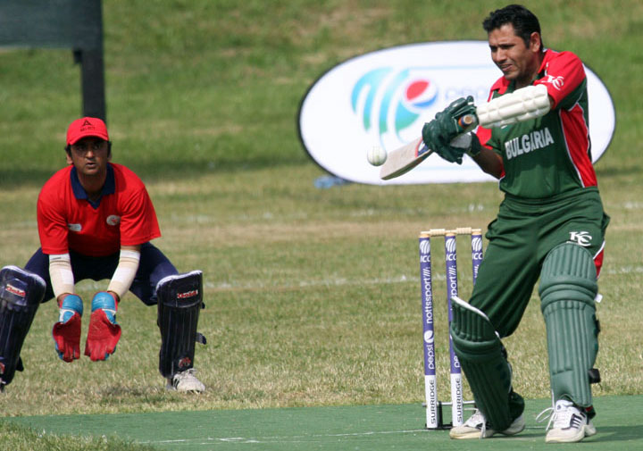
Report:
M 85 344 L 85 355 L 94 362 L 107 360 L 116 351 L 116 344 L 121 338 L 121 326 L 116 323 L 117 309 L 115 296 L 106 291 L 94 295 Z

